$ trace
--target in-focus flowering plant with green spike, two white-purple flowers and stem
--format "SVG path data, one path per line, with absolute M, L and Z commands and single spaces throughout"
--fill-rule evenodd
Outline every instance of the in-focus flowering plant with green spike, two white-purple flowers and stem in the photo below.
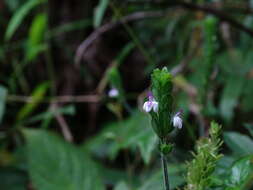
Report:
M 182 111 L 172 114 L 172 75 L 167 68 L 155 69 L 151 75 L 151 90 L 148 101 L 143 105 L 144 111 L 151 115 L 152 127 L 159 137 L 159 150 L 164 171 L 164 184 L 169 189 L 166 156 L 172 151 L 173 144 L 170 142 L 170 133 L 174 127 L 182 128 Z

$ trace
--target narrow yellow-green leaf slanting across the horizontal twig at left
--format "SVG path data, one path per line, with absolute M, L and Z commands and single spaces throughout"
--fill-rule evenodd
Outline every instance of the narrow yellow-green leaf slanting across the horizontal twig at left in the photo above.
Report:
M 29 116 L 41 103 L 41 100 L 45 96 L 49 85 L 48 83 L 40 84 L 32 93 L 32 102 L 25 104 L 18 113 L 17 121 L 21 121 Z

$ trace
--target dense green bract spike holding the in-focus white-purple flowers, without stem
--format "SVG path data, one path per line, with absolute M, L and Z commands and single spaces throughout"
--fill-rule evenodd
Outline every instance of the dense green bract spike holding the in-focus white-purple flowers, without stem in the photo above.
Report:
M 158 102 L 158 112 L 150 112 L 152 127 L 163 143 L 167 141 L 168 134 L 173 130 L 172 117 L 172 76 L 166 68 L 155 69 L 151 76 L 152 93 Z

